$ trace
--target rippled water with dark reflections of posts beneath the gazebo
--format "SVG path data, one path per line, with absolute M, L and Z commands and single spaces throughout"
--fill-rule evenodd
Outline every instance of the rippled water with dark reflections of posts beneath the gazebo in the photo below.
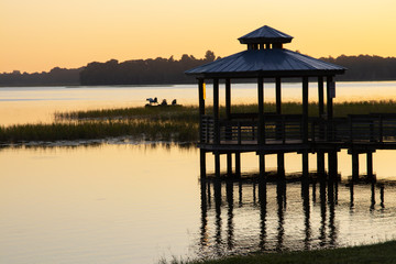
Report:
M 362 183 L 340 177 L 327 179 L 326 175 L 290 175 L 278 179 L 209 177 L 201 179 L 200 186 L 197 254 L 201 256 L 342 245 L 339 240 L 342 219 L 338 219 L 338 213 L 344 216 L 344 209 L 350 216 L 355 213 L 356 186 L 371 195 L 362 206 L 372 211 L 385 207 L 385 187 L 375 179 Z M 378 190 L 380 208 L 375 196 Z

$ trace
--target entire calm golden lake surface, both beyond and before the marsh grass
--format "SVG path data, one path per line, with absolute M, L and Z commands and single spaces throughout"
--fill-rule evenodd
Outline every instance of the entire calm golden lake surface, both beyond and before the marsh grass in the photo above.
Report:
M 297 100 L 299 86 L 285 86 L 290 92 L 284 92 L 284 99 Z M 314 85 L 311 89 L 314 100 Z M 240 102 L 254 102 L 255 86 L 235 85 L 237 94 Z M 142 106 L 155 96 L 195 105 L 197 90 L 196 86 L 0 88 L 0 122 L 50 122 L 54 111 Z M 396 82 L 341 82 L 337 96 L 337 100 L 388 100 L 396 96 Z M 212 172 L 213 158 L 207 155 Z M 309 157 L 315 170 L 315 156 Z M 111 140 L 2 147 L 0 263 L 156 263 L 172 256 L 218 257 L 392 240 L 395 158 L 396 152 L 374 153 L 377 184 L 352 186 L 351 156 L 341 152 L 338 185 L 268 183 L 263 199 L 264 187 L 254 182 L 201 183 L 196 147 Z M 266 164 L 275 169 L 276 156 L 266 156 Z M 286 173 L 301 170 L 297 154 L 287 154 L 285 164 Z M 364 174 L 363 155 L 360 165 Z M 256 155 L 242 155 L 243 172 L 257 167 Z

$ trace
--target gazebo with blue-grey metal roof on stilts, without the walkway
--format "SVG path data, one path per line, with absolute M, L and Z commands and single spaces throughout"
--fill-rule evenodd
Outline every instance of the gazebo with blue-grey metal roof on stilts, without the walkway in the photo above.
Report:
M 266 154 L 277 154 L 278 173 L 284 173 L 284 154 L 288 152 L 302 154 L 304 173 L 308 173 L 308 153 L 318 154 L 318 169 L 323 170 L 324 153 L 328 153 L 329 169 L 336 167 L 337 173 L 339 148 L 327 144 L 332 139 L 331 133 L 326 132 L 331 130 L 329 121 L 333 118 L 334 77 L 344 74 L 345 68 L 284 48 L 284 44 L 292 40 L 293 36 L 265 25 L 239 38 L 248 50 L 185 72 L 198 80 L 201 176 L 206 176 L 207 152 L 215 154 L 216 176 L 220 176 L 221 154 L 227 154 L 228 174 L 232 174 L 231 155 L 235 155 L 235 174 L 240 176 L 240 154 L 243 152 L 258 155 L 261 176 L 265 173 Z M 301 114 L 282 112 L 282 84 L 290 78 L 301 81 Z M 318 84 L 319 112 L 311 121 L 308 117 L 308 84 L 314 78 Z M 256 112 L 232 112 L 232 79 L 256 80 Z M 264 112 L 265 80 L 275 82 L 276 111 L 272 113 Z M 213 109 L 210 114 L 206 114 L 205 107 L 206 81 L 213 85 Z M 219 82 L 226 84 L 224 117 L 219 113 Z

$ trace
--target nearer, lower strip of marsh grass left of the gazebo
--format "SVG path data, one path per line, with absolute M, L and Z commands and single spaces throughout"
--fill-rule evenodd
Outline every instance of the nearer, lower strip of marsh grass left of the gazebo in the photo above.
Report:
M 0 141 L 73 141 L 130 136 L 141 141 L 196 141 L 198 125 L 182 122 L 87 121 L 52 124 L 20 124 L 0 128 Z

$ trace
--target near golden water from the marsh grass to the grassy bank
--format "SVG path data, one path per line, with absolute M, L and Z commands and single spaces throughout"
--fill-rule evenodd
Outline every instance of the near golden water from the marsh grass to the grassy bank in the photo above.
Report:
M 275 167 L 274 157 L 266 156 L 268 168 Z M 310 168 L 315 170 L 314 155 L 310 158 Z M 393 160 L 395 152 L 374 153 L 378 178 L 393 176 L 394 167 L 388 162 Z M 211 154 L 207 154 L 207 161 L 208 170 L 212 172 Z M 308 224 L 301 185 L 287 184 L 286 206 L 279 211 L 279 188 L 274 183 L 267 184 L 264 235 L 267 250 L 320 248 L 320 242 L 327 246 L 353 245 L 395 238 L 396 188 L 385 186 L 382 208 L 376 187 L 376 204 L 371 209 L 370 185 L 356 185 L 351 208 L 346 186 L 350 161 L 346 152 L 339 154 L 343 182 L 338 186 L 338 204 L 333 209 L 328 202 L 323 209 L 319 184 L 314 200 L 310 185 Z M 287 154 L 285 164 L 287 173 L 298 172 L 300 156 Z M 242 172 L 257 166 L 256 155 L 242 154 Z M 260 250 L 263 215 L 258 186 L 243 184 L 240 191 L 239 183 L 234 183 L 230 208 L 227 197 L 230 191 L 222 185 L 217 210 L 211 185 L 211 200 L 202 221 L 196 148 L 130 144 L 0 148 L 0 258 L 4 263 L 56 260 L 144 264 L 161 256 Z M 201 248 L 199 241 L 206 241 L 207 246 Z

